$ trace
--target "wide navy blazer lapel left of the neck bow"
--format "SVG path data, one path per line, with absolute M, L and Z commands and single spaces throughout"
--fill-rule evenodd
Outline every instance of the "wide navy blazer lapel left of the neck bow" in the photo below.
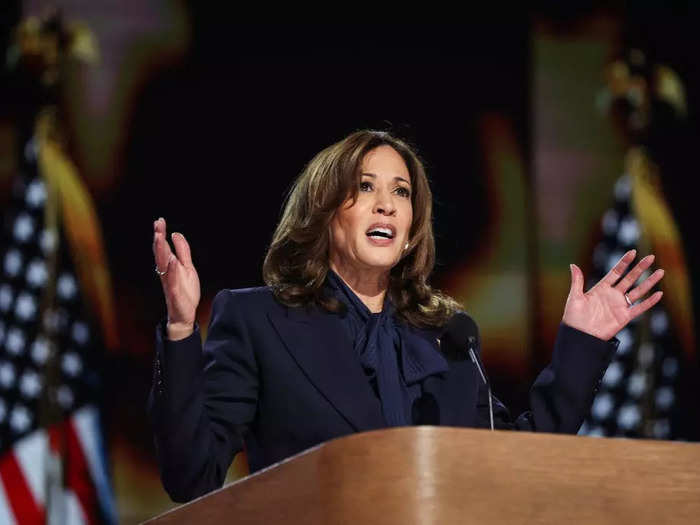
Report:
M 355 430 L 386 426 L 381 404 L 337 315 L 287 308 L 268 317 L 309 380 Z

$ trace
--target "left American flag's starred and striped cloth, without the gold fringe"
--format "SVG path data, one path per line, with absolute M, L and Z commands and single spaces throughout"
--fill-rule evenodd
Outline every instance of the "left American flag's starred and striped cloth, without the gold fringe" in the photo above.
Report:
M 116 523 L 98 408 L 102 335 L 39 155 L 31 136 L 0 245 L 0 524 Z

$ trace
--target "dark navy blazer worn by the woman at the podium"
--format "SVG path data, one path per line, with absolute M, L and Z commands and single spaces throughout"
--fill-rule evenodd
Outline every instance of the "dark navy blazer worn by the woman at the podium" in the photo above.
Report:
M 381 405 L 338 314 L 289 308 L 268 288 L 216 296 L 206 343 L 199 331 L 168 341 L 159 326 L 149 411 L 163 485 L 175 501 L 220 487 L 244 449 L 256 471 L 329 439 L 383 428 Z M 440 351 L 439 330 L 415 330 Z M 615 346 L 562 325 L 551 364 L 512 419 L 494 400 L 498 428 L 575 433 Z M 445 349 L 443 354 L 446 354 Z M 427 378 L 417 424 L 487 427 L 488 394 L 466 352 Z

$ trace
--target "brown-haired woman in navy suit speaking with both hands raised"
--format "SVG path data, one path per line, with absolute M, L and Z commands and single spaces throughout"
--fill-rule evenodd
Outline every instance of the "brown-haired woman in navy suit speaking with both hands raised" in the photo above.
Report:
M 251 471 L 328 439 L 386 426 L 487 426 L 489 394 L 463 349 L 440 336 L 459 305 L 430 288 L 432 196 L 414 152 L 387 133 L 353 133 L 297 179 L 265 258 L 267 286 L 220 292 L 202 352 L 199 279 L 163 219 L 153 250 L 168 310 L 157 330 L 150 410 L 161 475 L 176 501 L 220 487 L 245 448 Z M 625 254 L 601 282 L 572 284 L 552 364 L 531 412 L 499 428 L 577 431 L 615 345 L 653 306 L 663 276 Z M 629 291 L 628 291 L 629 290 Z M 477 348 L 478 352 L 478 348 Z

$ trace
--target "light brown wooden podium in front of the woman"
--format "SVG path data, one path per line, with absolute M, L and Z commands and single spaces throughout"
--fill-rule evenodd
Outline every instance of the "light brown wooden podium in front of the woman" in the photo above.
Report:
M 446 427 L 366 432 L 148 523 L 700 523 L 700 444 Z

